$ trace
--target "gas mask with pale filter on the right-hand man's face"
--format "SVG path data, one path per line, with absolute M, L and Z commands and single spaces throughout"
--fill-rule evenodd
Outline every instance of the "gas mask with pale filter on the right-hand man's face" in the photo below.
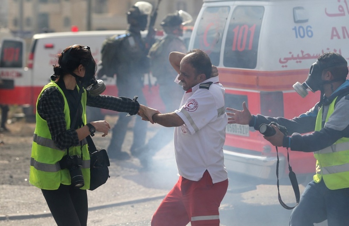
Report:
M 344 65 L 344 64 L 343 64 Z M 341 66 L 341 64 L 335 64 L 335 65 L 322 65 L 320 61 L 316 61 L 315 63 L 312 64 L 309 70 L 309 74 L 305 82 L 302 84 L 300 82 L 296 82 L 293 85 L 293 88 L 296 90 L 296 92 L 301 96 L 301 97 L 306 97 L 308 95 L 307 89 L 309 89 L 312 92 L 316 92 L 318 90 L 322 89 L 322 86 L 324 84 L 332 83 L 332 82 L 337 82 L 340 80 L 343 80 L 342 78 L 337 78 L 331 81 L 324 81 L 322 80 L 322 71 L 326 68 L 334 67 L 334 66 Z

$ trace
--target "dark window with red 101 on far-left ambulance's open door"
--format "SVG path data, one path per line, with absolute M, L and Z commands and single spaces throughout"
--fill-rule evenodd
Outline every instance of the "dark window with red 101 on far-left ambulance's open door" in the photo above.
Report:
M 1 46 L 0 67 L 21 68 L 23 43 L 16 40 L 4 40 Z

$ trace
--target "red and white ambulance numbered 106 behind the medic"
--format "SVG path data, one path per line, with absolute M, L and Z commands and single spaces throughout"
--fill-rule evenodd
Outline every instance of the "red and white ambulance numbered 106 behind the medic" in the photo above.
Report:
M 225 87 L 225 106 L 252 114 L 292 119 L 320 100 L 300 97 L 303 83 L 324 52 L 349 60 L 347 0 L 204 0 L 189 49 L 206 51 Z M 226 127 L 224 163 L 229 175 L 257 183 L 276 182 L 276 148 L 248 125 Z M 279 178 L 288 180 L 287 151 L 279 148 Z M 315 173 L 313 153 L 289 151 L 298 183 Z

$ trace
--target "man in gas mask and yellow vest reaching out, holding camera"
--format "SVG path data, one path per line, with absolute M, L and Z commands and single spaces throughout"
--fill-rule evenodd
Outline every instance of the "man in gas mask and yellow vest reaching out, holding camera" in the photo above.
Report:
M 277 126 L 276 134 L 264 136 L 275 146 L 292 151 L 314 152 L 316 174 L 305 188 L 299 204 L 293 209 L 289 224 L 307 226 L 327 219 L 328 225 L 349 222 L 349 80 L 348 63 L 340 54 L 329 52 L 318 57 L 303 84 L 294 85 L 305 97 L 307 89 L 321 92 L 319 103 L 308 112 L 288 120 L 260 114 L 251 115 L 227 108 L 228 123 L 250 125 L 258 130 L 263 123 L 276 122 L 288 129 L 285 136 Z M 312 133 L 309 133 L 312 132 Z M 301 135 L 304 133 L 309 133 Z

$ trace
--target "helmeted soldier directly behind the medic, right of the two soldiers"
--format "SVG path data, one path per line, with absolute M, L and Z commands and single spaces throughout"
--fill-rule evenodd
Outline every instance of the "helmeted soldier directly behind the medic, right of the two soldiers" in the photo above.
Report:
M 183 10 L 165 16 L 161 26 L 166 33 L 165 37 L 158 40 L 149 50 L 150 70 L 159 84 L 160 97 L 165 104 L 165 112 L 173 112 L 178 108 L 183 91 L 178 89 L 174 82 L 176 72 L 169 62 L 171 52 L 187 52 L 187 48 L 180 39 L 183 35 L 185 24 L 192 22 L 190 14 Z M 149 160 L 155 153 L 173 139 L 173 128 L 162 127 L 146 145 L 132 150 L 132 155 L 139 157 L 143 167 L 148 167 Z

